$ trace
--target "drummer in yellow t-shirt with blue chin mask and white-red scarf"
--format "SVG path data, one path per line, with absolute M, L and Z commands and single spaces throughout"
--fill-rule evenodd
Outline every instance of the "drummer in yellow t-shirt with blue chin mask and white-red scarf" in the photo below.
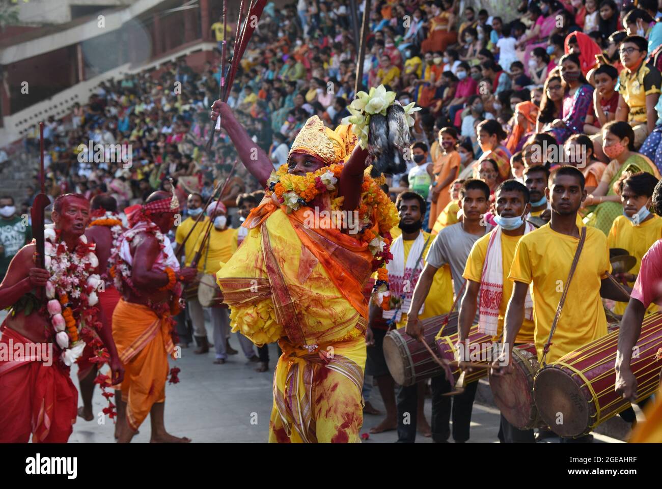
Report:
M 479 294 L 483 282 L 489 282 L 489 285 L 483 284 L 482 294 L 489 294 L 489 296 L 493 296 L 494 292 L 500 292 L 501 294 L 498 304 L 497 324 L 492 325 L 495 330 L 494 341 L 497 341 L 501 334 L 504 317 L 506 316 L 506 306 L 513 287 L 513 283 L 508 280 L 508 273 L 510 273 L 515 248 L 525 232 L 528 233 L 535 229 L 532 224 L 525 223 L 522 218 L 522 216 L 528 214 L 529 209 L 529 191 L 522 183 L 516 180 L 506 180 L 496 187 L 495 222 L 498 226 L 473 244 L 462 275 L 467 279 L 467 288 L 459 305 L 458 330 L 461 343 L 464 343 L 467 338 L 476 312 L 483 316 L 481 322 L 490 317 L 490 313 L 494 314 L 496 312 L 490 310 L 487 295 L 483 297 Z M 499 240 L 499 242 L 497 243 L 496 240 Z M 498 277 L 490 277 L 492 271 L 498 273 L 499 259 L 501 274 Z M 495 265 L 495 261 L 497 263 L 496 267 L 486 267 L 487 263 Z M 481 297 L 486 300 L 481 301 Z M 482 326 L 481 324 L 481 328 Z M 534 322 L 532 318 L 525 317 L 522 328 L 515 338 L 515 345 L 533 343 L 533 341 Z M 535 443 L 533 429 L 517 429 L 508 423 L 504 416 L 501 416 L 499 439 L 502 439 L 505 443 Z

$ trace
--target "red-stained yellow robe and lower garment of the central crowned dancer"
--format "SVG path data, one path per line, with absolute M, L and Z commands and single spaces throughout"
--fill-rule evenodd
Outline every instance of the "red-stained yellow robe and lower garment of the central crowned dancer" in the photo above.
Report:
M 286 336 L 279 324 L 267 275 L 263 232 L 291 296 L 305 344 Z M 273 383 L 269 441 L 359 442 L 363 424 L 361 388 L 367 322 L 336 288 L 314 255 L 303 246 L 288 216 L 279 209 L 249 230 L 242 245 L 218 271 L 224 281 L 245 284 L 245 298 L 232 298 L 232 330 L 254 343 L 279 339 L 283 349 Z M 225 290 L 224 290 L 225 292 Z M 226 294 L 232 296 L 232 292 Z M 312 351 L 308 351 L 308 348 Z

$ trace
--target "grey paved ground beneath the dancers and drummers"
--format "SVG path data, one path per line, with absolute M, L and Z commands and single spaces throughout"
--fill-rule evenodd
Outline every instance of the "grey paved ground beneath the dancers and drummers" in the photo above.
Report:
M 3 320 L 5 312 L 0 312 Z M 207 325 L 209 333 L 211 328 Z M 211 334 L 210 334 L 211 337 Z M 236 335 L 230 344 L 240 351 Z M 242 353 L 232 355 L 225 365 L 213 365 L 213 353 L 194 355 L 193 347 L 182 350 L 182 358 L 171 362 L 181 373 L 179 384 L 166 387 L 166 428 L 177 436 L 187 436 L 194 443 L 265 443 L 271 414 L 271 380 L 277 359 L 275 345 L 270 345 L 271 369 L 265 373 L 254 371 L 255 364 L 248 363 Z M 76 386 L 77 367 L 71 368 L 71 378 Z M 383 404 L 377 387 L 373 388 L 370 401 L 383 412 Z M 115 425 L 103 418 L 101 410 L 106 406 L 99 389 L 95 389 L 93 409 L 97 418 L 85 422 L 77 418 L 70 443 L 112 443 Z M 79 406 L 82 401 L 79 400 Z M 431 401 L 426 399 L 425 413 L 430 420 Z M 381 422 L 381 416 L 365 415 L 361 433 Z M 103 423 L 102 423 L 103 422 Z M 499 413 L 492 406 L 475 404 L 471 420 L 469 443 L 496 443 Z M 150 439 L 149 419 L 140 428 L 134 442 L 146 443 Z M 370 435 L 365 443 L 393 443 L 395 431 Z M 417 443 L 432 443 L 430 438 L 418 436 Z M 595 435 L 596 443 L 619 443 L 604 435 Z M 550 439 L 557 443 L 558 439 Z

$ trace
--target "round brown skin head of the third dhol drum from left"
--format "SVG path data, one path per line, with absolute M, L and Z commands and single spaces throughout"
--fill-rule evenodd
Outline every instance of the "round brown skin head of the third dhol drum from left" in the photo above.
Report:
M 501 414 L 518 429 L 524 429 L 532 422 L 532 392 L 528 377 L 519 365 L 515 365 L 512 375 L 496 376 L 489 373 L 490 387 L 496 407 Z

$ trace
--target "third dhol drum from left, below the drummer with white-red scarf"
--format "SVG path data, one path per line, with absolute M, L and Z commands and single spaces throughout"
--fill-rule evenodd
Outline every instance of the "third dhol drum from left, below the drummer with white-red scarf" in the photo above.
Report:
M 512 349 L 511 375 L 489 373 L 490 388 L 496 407 L 518 429 L 531 429 L 544 425 L 534 402 L 534 378 L 538 372 L 538 355 L 534 343 L 518 345 Z

